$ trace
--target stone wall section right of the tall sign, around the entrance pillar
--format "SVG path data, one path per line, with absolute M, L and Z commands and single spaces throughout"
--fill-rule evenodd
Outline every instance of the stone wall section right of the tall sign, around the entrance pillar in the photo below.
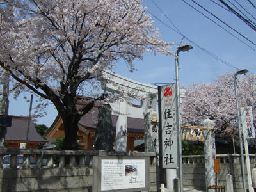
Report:
M 221 160 L 220 173 L 217 173 L 218 185 L 226 186 L 226 175 L 230 174 L 233 177 L 234 192 L 243 192 L 243 179 L 239 154 L 221 154 L 216 155 L 216 158 Z M 250 154 L 251 170 L 254 167 L 255 162 L 255 154 Z M 245 173 L 246 187 L 248 189 L 246 166 Z M 183 179 L 184 188 L 206 191 L 204 156 L 183 157 Z M 230 190 L 226 188 L 226 191 Z

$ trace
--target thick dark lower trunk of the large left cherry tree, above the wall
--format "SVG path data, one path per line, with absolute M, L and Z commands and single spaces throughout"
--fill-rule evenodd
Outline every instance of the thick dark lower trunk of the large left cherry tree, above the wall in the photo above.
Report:
M 62 149 L 77 150 L 77 132 L 79 118 L 74 115 L 65 116 L 63 119 L 65 138 L 63 141 Z

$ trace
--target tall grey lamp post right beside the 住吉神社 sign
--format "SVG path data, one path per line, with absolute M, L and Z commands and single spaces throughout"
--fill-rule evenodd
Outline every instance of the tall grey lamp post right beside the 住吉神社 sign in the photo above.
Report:
M 179 86 L 179 52 L 189 51 L 193 49 L 191 45 L 184 45 L 178 47 L 175 52 L 175 69 L 176 69 L 176 104 L 177 104 L 177 140 L 178 140 L 178 154 L 179 154 L 179 170 L 180 170 L 180 192 L 183 192 L 183 168 L 182 168 L 182 140 L 181 140 L 181 124 L 180 124 L 180 86 Z

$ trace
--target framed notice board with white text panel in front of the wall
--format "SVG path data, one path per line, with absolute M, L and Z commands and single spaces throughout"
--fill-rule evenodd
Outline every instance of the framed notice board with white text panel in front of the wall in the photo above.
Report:
M 147 156 L 93 156 L 92 191 L 148 191 Z

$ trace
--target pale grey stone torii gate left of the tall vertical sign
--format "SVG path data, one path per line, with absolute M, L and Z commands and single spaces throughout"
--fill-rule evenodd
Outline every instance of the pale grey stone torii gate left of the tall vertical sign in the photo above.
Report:
M 153 122 L 157 122 L 158 113 L 155 111 L 157 102 L 157 86 L 133 81 L 107 70 L 102 71 L 102 75 L 99 80 L 102 83 L 102 89 L 108 90 L 109 92 L 125 92 L 131 93 L 131 97 L 132 94 L 136 94 L 137 97 L 146 98 L 141 100 L 141 108 L 129 106 L 125 99 L 120 99 L 118 102 L 110 104 L 112 114 L 118 115 L 116 122 L 115 151 L 126 152 L 127 117 L 140 119 L 145 119 L 146 117 L 150 118 Z M 150 129 L 150 126 L 154 126 L 154 124 L 146 123 L 146 125 L 145 150 L 158 152 L 158 131 L 155 133 L 150 131 L 152 130 Z

